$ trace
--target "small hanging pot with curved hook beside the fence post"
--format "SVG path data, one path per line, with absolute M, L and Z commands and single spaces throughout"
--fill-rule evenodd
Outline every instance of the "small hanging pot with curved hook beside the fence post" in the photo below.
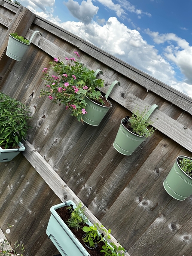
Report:
M 34 35 L 40 31 L 34 31 L 32 36 L 30 37 L 29 44 L 23 43 L 17 40 L 15 37 L 12 37 L 9 34 L 9 41 L 7 45 L 6 55 L 9 58 L 14 59 L 15 61 L 21 61 L 25 52 L 27 51 L 28 47 L 30 46 L 31 40 L 33 39 Z M 41 34 L 41 33 L 40 33 Z

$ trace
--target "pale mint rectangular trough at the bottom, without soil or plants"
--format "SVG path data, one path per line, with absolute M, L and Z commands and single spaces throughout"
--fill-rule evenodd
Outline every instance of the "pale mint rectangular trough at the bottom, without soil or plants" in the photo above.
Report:
M 76 207 L 73 201 L 70 200 L 51 207 L 51 216 L 46 234 L 53 244 L 55 244 L 62 256 L 90 256 L 55 211 L 58 208 L 69 206 L 70 204 L 72 204 L 73 207 Z

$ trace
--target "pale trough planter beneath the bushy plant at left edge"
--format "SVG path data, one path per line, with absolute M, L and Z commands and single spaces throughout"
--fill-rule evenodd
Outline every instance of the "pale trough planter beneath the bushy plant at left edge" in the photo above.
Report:
M 25 150 L 25 147 L 23 146 L 23 144 L 21 144 L 21 142 L 18 143 L 18 146 L 18 149 L 2 149 L 0 147 L 0 162 L 9 162 L 21 151 Z

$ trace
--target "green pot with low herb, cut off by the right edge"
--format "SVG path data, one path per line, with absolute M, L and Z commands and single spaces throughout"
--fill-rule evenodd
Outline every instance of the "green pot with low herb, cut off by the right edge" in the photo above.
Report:
M 192 195 L 192 158 L 178 156 L 163 186 L 169 195 L 180 201 Z

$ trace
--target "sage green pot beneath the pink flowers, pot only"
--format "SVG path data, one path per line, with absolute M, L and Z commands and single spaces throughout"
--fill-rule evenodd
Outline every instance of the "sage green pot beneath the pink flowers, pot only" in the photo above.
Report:
M 100 125 L 100 122 L 102 121 L 110 107 L 112 107 L 112 104 L 110 103 L 110 101 L 107 100 L 110 103 L 110 107 L 105 107 L 95 103 L 94 101 L 91 101 L 87 97 L 85 97 L 85 101 L 87 103 L 85 107 L 85 111 L 87 112 L 87 114 L 82 115 L 83 121 L 88 125 Z

